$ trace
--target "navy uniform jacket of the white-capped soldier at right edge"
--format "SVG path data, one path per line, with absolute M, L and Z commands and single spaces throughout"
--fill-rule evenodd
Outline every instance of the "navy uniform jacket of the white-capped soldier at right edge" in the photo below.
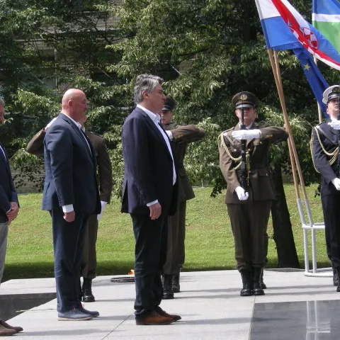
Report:
M 331 157 L 327 156 L 322 149 L 322 146 L 326 150 L 326 152 L 332 153 L 334 152 L 338 146 L 338 131 L 331 128 L 328 123 L 331 120 L 327 120 L 326 122 L 317 125 L 316 128 L 313 128 L 312 131 L 312 159 L 314 162 L 315 169 L 319 171 L 322 177 L 321 181 L 321 195 L 339 195 L 339 191 L 336 190 L 333 183 L 331 183 L 332 179 L 336 178 L 337 172 L 337 159 L 336 161 L 330 165 L 329 160 Z M 318 130 L 318 135 L 322 145 L 320 145 L 319 138 L 317 137 L 317 128 L 321 128 Z M 324 135 L 325 134 L 325 135 Z M 339 156 L 338 156 L 339 157 Z M 338 174 L 339 176 L 339 174 Z

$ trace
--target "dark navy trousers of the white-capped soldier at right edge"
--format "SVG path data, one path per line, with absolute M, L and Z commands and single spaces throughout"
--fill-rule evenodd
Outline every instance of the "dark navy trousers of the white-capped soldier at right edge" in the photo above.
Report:
M 321 203 L 327 255 L 335 268 L 340 266 L 340 193 L 321 196 Z

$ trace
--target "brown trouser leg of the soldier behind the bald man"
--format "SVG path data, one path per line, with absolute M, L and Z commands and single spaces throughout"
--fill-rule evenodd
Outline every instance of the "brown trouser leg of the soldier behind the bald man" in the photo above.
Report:
M 83 256 L 81 259 L 81 276 L 83 278 L 96 278 L 97 255 L 96 242 L 98 234 L 97 215 L 90 215 L 89 227 L 86 228 Z

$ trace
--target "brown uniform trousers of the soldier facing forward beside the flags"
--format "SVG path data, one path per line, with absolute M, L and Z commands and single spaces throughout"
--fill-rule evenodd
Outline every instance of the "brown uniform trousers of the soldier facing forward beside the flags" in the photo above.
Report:
M 235 242 L 237 269 L 251 270 L 266 265 L 267 225 L 271 200 L 255 201 L 249 196 L 245 204 L 227 204 Z

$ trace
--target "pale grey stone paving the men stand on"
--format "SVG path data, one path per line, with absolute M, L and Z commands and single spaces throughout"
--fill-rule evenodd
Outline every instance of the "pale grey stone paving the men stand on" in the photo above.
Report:
M 255 303 L 340 300 L 331 278 L 307 278 L 303 272 L 265 271 L 268 289 L 259 297 L 239 296 L 242 283 L 237 271 L 181 273 L 181 293 L 175 294 L 174 300 L 163 300 L 161 307 L 180 314 L 182 320 L 166 326 L 136 326 L 135 283 L 111 283 L 113 277 L 96 278 L 96 302 L 85 304 L 86 309 L 98 310 L 100 317 L 87 322 L 57 321 L 56 300 L 52 300 L 8 321 L 24 329 L 15 339 L 248 340 Z M 45 278 L 10 280 L 1 285 L 1 294 L 13 291 L 51 293 L 55 282 Z

